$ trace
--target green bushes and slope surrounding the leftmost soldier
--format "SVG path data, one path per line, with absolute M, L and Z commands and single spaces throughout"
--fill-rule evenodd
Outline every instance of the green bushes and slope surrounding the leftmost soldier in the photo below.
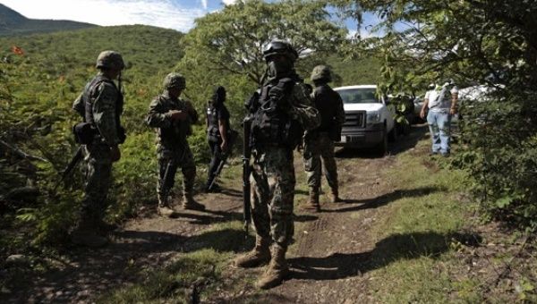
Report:
M 35 244 L 61 242 L 72 225 L 82 175 L 75 170 L 64 187 L 55 191 L 55 186 L 58 173 L 76 148 L 71 127 L 80 117 L 71 110 L 72 100 L 96 73 L 95 58 L 104 49 L 124 54 L 127 65 L 123 122 L 128 139 L 123 160 L 115 166 L 110 199 L 118 203 L 110 210 L 110 220 L 123 220 L 137 205 L 152 201 L 156 157 L 154 134 L 145 124 L 145 113 L 160 91 L 164 75 L 183 55 L 179 48 L 182 37 L 175 30 L 125 26 L 0 38 L 4 58 L 0 63 L 0 139 L 7 144 L 0 149 L 0 190 L 6 243 L 27 238 Z M 14 54 L 12 46 L 20 47 L 21 54 Z M 203 129 L 196 128 L 200 135 L 192 142 L 194 148 L 205 145 Z M 23 229 L 17 234 L 10 227 Z M 26 244 L 22 248 L 33 246 L 22 243 Z M 3 246 L 2 256 L 13 248 Z

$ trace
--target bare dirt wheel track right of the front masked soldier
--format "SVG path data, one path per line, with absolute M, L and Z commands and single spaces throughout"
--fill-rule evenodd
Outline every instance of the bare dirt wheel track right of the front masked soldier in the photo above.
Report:
M 381 173 L 394 156 L 338 159 L 340 204 L 321 200 L 317 220 L 298 224 L 296 244 L 290 249 L 292 278 L 271 290 L 265 300 L 279 303 L 366 303 L 370 252 L 375 247 L 370 230 L 388 203 L 389 182 Z M 326 188 L 326 187 L 325 187 Z M 297 215 L 304 212 L 299 208 Z

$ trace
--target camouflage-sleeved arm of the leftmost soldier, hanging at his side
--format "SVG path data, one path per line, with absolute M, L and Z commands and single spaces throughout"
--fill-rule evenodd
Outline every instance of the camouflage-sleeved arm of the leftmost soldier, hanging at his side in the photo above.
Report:
M 105 139 L 108 146 L 116 147 L 119 144 L 117 125 L 115 124 L 115 103 L 117 102 L 117 89 L 103 82 L 95 91 L 97 97 L 92 106 L 93 120 L 98 132 Z

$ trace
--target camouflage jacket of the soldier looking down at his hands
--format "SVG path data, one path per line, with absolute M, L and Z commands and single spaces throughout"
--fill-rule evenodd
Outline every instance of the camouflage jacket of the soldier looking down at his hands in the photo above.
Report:
M 173 121 L 169 113 L 173 110 L 188 111 L 189 115 L 183 121 Z M 160 148 L 175 150 L 187 145 L 186 138 L 192 134 L 192 123 L 198 122 L 198 118 L 190 102 L 170 97 L 165 90 L 149 104 L 146 122 L 149 127 L 157 129 Z

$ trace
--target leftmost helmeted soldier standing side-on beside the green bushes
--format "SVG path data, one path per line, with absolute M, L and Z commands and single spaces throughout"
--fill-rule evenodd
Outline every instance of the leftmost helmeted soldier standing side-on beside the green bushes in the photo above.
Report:
M 124 142 L 125 133 L 119 122 L 123 112 L 121 81 L 124 69 L 122 56 L 115 51 L 104 51 L 97 58 L 98 75 L 93 78 L 72 108 L 91 125 L 90 142 L 83 146 L 87 163 L 86 189 L 82 200 L 81 218 L 72 232 L 75 244 L 100 247 L 107 244 L 102 230 L 109 226 L 103 222 L 107 209 L 107 192 L 112 182 L 112 163 L 119 160 L 118 145 Z

